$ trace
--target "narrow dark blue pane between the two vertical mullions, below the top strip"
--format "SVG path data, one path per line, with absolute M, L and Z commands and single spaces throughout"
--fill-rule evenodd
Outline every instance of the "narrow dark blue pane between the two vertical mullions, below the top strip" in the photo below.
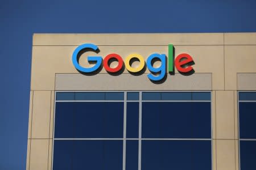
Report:
M 131 102 L 126 105 L 126 138 L 139 136 L 139 103 Z

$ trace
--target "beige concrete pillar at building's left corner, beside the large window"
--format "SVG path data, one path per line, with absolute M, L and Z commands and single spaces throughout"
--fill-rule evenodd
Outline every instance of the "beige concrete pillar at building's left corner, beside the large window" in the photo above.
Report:
M 30 92 L 27 170 L 51 169 L 54 91 Z

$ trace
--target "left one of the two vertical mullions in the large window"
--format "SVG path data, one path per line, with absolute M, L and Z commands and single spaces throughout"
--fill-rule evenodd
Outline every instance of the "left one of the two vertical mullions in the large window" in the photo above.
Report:
M 127 110 L 127 92 L 125 91 L 123 100 L 123 170 L 126 167 L 126 110 Z

